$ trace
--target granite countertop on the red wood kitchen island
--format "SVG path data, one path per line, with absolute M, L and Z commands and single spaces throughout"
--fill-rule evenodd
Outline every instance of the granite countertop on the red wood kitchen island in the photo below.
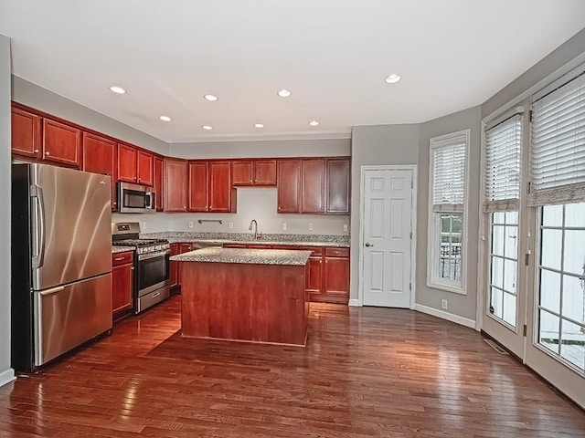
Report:
M 176 262 L 240 263 L 249 265 L 306 265 L 311 251 L 209 247 L 173 255 Z

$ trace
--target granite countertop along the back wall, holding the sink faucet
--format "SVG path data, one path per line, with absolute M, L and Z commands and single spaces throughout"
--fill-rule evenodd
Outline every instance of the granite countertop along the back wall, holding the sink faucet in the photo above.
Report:
M 144 238 L 167 239 L 170 243 L 185 242 L 202 246 L 244 244 L 244 245 L 287 245 L 287 246 L 332 246 L 349 247 L 347 235 L 262 235 L 254 240 L 251 233 L 189 233 L 165 232 L 142 234 Z

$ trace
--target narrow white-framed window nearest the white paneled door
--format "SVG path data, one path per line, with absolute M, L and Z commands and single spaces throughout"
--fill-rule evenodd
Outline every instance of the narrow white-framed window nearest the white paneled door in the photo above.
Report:
M 431 139 L 427 285 L 464 294 L 465 193 L 470 131 Z

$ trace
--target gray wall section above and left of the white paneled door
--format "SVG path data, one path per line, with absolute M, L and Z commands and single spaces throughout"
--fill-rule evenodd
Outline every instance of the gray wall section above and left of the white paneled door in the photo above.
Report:
M 349 297 L 357 299 L 359 272 L 360 178 L 361 166 L 417 164 L 419 125 L 356 126 L 351 141 L 351 284 Z

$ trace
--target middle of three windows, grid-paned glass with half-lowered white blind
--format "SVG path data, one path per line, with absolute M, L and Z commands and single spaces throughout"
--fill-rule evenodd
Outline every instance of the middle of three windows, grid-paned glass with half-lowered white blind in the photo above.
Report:
M 521 114 L 487 126 L 484 213 L 490 216 L 488 312 L 512 328 L 516 328 L 521 146 Z

